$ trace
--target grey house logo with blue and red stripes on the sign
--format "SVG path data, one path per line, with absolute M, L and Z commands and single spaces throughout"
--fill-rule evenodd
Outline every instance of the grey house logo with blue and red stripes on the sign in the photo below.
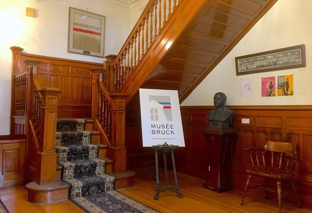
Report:
M 150 109 L 151 121 L 159 120 L 159 111 L 163 110 L 167 121 L 173 121 L 170 96 L 149 95 L 149 102 L 154 101 Z

